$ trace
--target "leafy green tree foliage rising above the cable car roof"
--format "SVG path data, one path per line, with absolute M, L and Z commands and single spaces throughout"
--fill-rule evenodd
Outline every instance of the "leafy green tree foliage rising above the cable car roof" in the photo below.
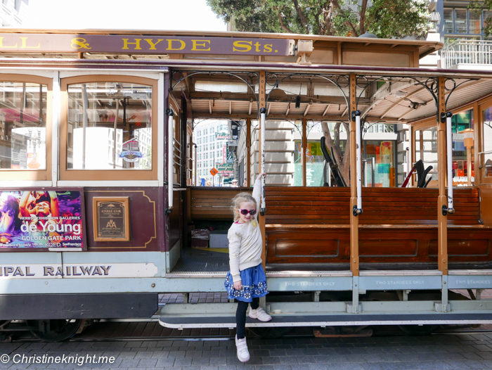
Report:
M 492 0 L 488 0 L 492 1 Z M 425 37 L 427 0 L 207 0 L 238 31 Z

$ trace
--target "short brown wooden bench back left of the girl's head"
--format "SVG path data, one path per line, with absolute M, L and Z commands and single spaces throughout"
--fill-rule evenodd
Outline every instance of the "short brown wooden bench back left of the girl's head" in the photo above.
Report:
M 188 188 L 188 215 L 192 221 L 211 219 L 233 221 L 231 200 L 237 193 L 252 188 L 203 187 Z

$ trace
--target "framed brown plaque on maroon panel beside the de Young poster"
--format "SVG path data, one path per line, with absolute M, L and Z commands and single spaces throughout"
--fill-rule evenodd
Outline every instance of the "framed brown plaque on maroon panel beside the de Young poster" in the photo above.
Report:
M 129 197 L 94 197 L 94 241 L 129 241 Z

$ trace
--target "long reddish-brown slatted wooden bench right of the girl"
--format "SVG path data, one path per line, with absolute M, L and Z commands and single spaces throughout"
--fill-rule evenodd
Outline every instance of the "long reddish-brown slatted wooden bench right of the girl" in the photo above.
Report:
M 455 189 L 448 217 L 450 262 L 492 260 L 492 227 L 479 191 Z M 436 262 L 438 189 L 363 188 L 363 263 Z M 349 263 L 350 189 L 266 187 L 267 263 Z

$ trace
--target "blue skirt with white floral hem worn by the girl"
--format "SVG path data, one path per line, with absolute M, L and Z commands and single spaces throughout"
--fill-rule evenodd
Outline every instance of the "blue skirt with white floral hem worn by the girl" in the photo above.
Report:
M 252 302 L 253 298 L 261 298 L 268 294 L 266 275 L 261 263 L 258 266 L 242 270 L 240 274 L 242 288 L 238 291 L 237 289 L 234 289 L 234 281 L 231 272 L 229 271 L 227 273 L 224 286 L 226 287 L 228 298 L 230 300 L 235 299 L 242 300 L 242 302 Z

